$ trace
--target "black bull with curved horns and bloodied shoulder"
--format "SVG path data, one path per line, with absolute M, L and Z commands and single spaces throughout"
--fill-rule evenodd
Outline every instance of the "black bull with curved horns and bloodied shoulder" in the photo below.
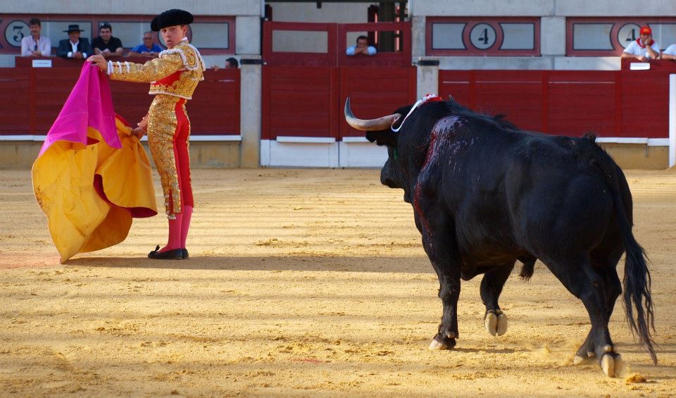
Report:
M 593 136 L 554 137 L 518 130 L 501 116 L 474 113 L 453 101 L 427 102 L 403 125 L 411 106 L 375 120 L 345 118 L 366 138 L 386 145 L 382 184 L 401 188 L 413 206 L 423 247 L 439 277 L 444 306 L 431 349 L 458 337 L 460 280 L 484 274 L 484 323 L 506 331 L 498 298 L 515 261 L 524 279 L 541 260 L 582 300 L 592 328 L 575 363 L 596 357 L 613 377 L 622 359 L 608 321 L 622 285 L 615 269 L 626 252 L 623 300 L 627 321 L 653 363 L 651 279 L 632 235 L 632 196 L 622 170 Z M 399 123 L 393 132 L 390 123 Z

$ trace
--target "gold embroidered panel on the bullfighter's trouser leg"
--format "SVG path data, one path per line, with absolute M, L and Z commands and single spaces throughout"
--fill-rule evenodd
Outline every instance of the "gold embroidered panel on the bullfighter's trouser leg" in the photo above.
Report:
M 176 132 L 176 103 L 179 97 L 157 95 L 148 111 L 148 144 L 160 175 L 164 192 L 164 205 L 170 220 L 181 213 L 181 188 L 174 156 L 174 134 Z

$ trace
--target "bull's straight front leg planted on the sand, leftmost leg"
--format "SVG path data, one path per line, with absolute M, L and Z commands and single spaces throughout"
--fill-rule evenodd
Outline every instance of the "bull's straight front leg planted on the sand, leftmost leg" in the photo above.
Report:
M 426 212 L 427 213 L 427 212 Z M 432 211 L 434 213 L 434 211 Z M 418 215 L 417 215 L 418 216 Z M 423 234 L 423 247 L 439 278 L 439 299 L 442 300 L 442 321 L 430 343 L 430 349 L 451 349 L 458 338 L 458 297 L 460 297 L 460 254 L 448 218 L 416 217 Z

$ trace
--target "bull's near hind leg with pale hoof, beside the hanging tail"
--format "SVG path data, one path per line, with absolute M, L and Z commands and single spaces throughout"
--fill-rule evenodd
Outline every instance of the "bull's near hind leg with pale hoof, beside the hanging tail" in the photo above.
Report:
M 596 356 L 596 360 L 608 377 L 615 377 L 620 373 L 622 361 L 614 352 L 611 334 L 608 331 L 612 307 L 608 305 L 610 297 L 607 297 L 606 292 L 612 290 L 606 285 L 612 284 L 611 280 L 605 275 L 596 273 L 587 258 L 580 258 L 577 261 L 548 261 L 546 265 L 569 292 L 582 300 L 589 313 L 592 330 L 589 331 L 587 342 L 582 344 L 581 348 Z

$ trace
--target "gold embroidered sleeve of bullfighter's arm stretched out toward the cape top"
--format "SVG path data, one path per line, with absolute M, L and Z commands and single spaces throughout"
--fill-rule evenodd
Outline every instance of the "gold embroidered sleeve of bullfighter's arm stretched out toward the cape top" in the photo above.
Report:
M 179 54 L 168 54 L 162 58 L 154 58 L 141 65 L 140 63 L 108 61 L 108 75 L 113 80 L 126 82 L 151 83 L 161 80 L 183 68 Z

